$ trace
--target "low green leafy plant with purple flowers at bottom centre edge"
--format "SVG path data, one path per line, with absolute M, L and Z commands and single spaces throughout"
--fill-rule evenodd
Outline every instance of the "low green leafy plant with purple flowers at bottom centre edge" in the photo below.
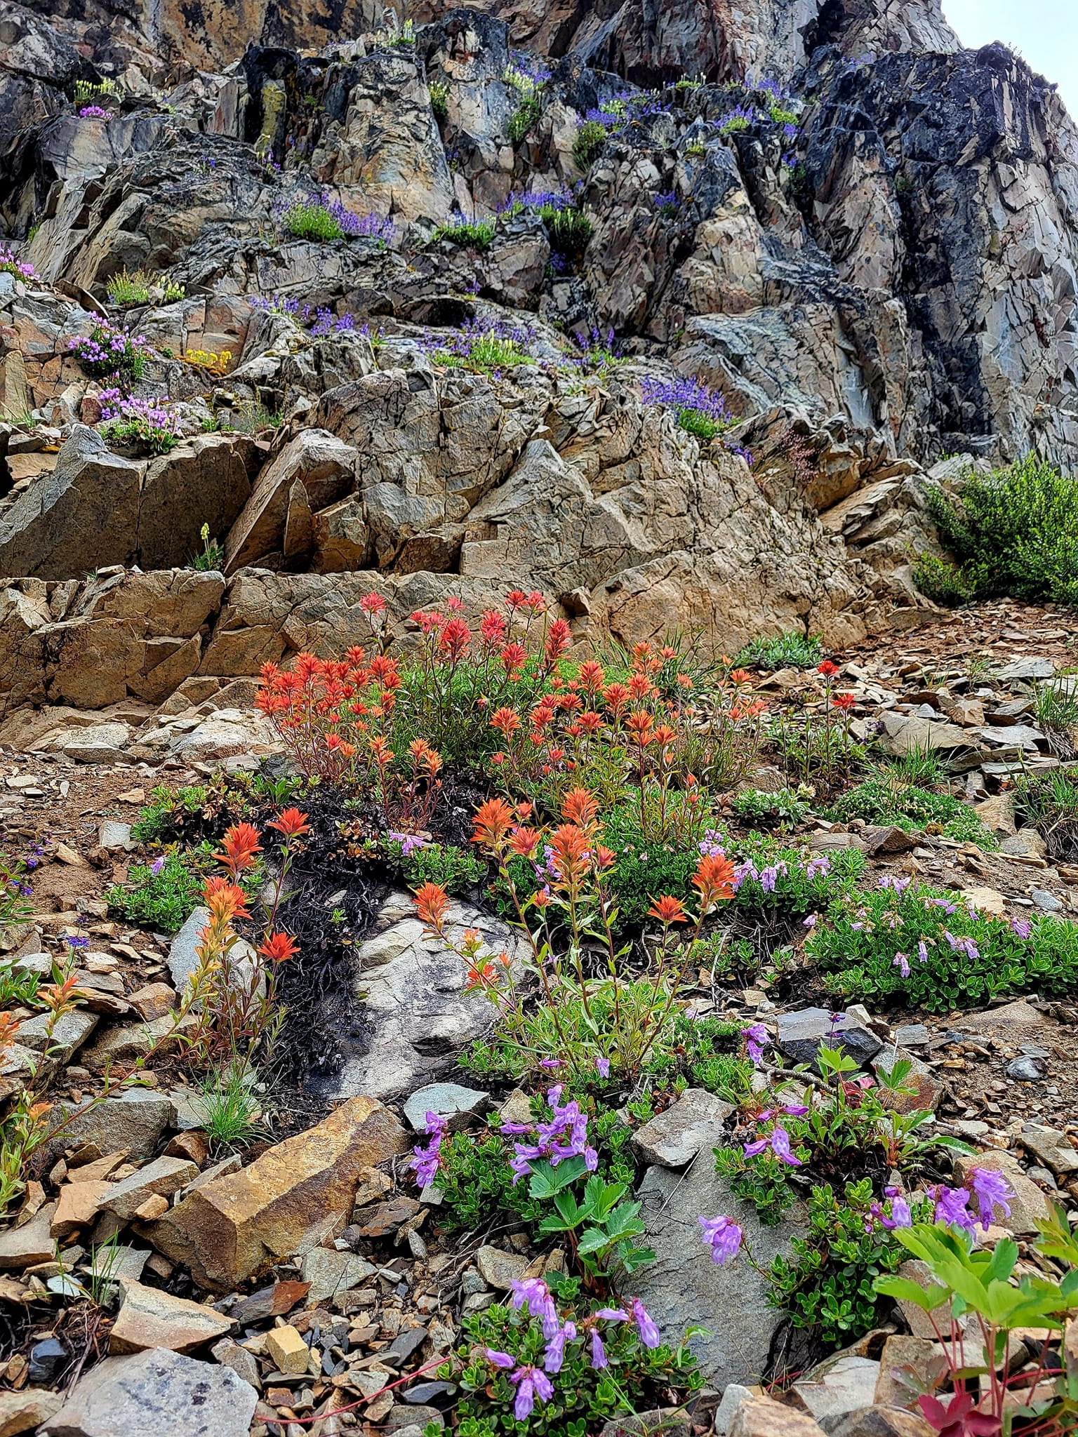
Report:
M 614 1417 L 684 1403 L 699 1391 L 703 1380 L 688 1346 L 644 1346 L 634 1322 L 594 1318 L 594 1302 L 581 1300 L 572 1280 L 558 1283 L 558 1296 L 559 1322 L 573 1321 L 578 1336 L 566 1342 L 561 1369 L 549 1380 L 552 1395 L 536 1401 L 522 1421 L 513 1415 L 517 1388 L 512 1372 L 526 1367 L 542 1371 L 546 1338 L 539 1321 L 499 1303 L 463 1319 L 466 1345 L 437 1369 L 460 1390 L 460 1437 L 584 1437 Z M 609 1364 L 599 1369 L 591 1362 L 592 1326 L 601 1331 Z M 512 1367 L 496 1367 L 486 1352 L 505 1352 Z

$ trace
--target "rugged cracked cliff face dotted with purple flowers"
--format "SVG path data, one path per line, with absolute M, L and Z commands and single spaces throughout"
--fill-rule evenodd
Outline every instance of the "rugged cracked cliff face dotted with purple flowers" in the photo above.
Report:
M 1078 134 L 937 0 L 3 0 L 0 34 L 0 572 L 62 591 L 9 591 L 32 701 L 42 627 L 99 608 L 70 583 L 204 523 L 231 598 L 152 619 L 172 687 L 254 671 L 234 602 L 348 608 L 352 575 L 401 612 L 413 576 L 529 583 L 582 638 L 862 632 L 911 601 L 924 467 L 1072 453 Z M 359 233 L 303 231 L 312 198 Z M 121 272 L 152 292 L 116 308 Z M 85 427 L 102 316 L 172 453 Z

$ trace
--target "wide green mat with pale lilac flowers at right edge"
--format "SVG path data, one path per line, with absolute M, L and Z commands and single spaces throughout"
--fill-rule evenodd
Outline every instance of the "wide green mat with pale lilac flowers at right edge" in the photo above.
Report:
M 831 993 L 870 1007 L 947 1013 L 1009 993 L 1078 990 L 1078 925 L 980 914 L 959 894 L 908 878 L 837 897 L 805 953 Z

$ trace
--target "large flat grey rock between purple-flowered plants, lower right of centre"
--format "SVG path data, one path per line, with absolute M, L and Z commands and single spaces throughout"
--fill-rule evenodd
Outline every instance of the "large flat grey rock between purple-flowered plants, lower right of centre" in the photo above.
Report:
M 677 1345 L 686 1322 L 697 1322 L 710 1334 L 690 1342 L 704 1382 L 720 1390 L 727 1382 L 755 1382 L 768 1365 L 782 1315 L 768 1306 L 768 1283 L 745 1260 L 724 1267 L 711 1262 L 700 1237 L 700 1217 L 720 1213 L 732 1217 L 745 1229 L 756 1260 L 766 1269 L 778 1253 L 788 1250 L 791 1236 L 805 1232 L 802 1206 L 791 1209 L 786 1223 L 763 1227 L 756 1210 L 737 1201 L 704 1152 L 687 1174 L 648 1168 L 637 1197 L 655 1262 L 634 1275 L 632 1290 L 664 1341 Z

